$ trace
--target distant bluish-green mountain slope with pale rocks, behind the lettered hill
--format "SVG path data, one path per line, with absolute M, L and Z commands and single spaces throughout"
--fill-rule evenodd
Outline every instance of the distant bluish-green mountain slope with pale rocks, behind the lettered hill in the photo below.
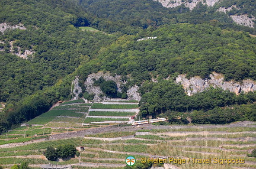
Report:
M 95 22 L 97 21 L 95 20 L 91 24 L 110 32 L 121 31 L 126 34 L 132 34 L 135 30 L 130 30 L 130 27 L 147 28 L 149 26 L 158 27 L 159 25 L 183 22 L 199 24 L 216 21 L 223 28 L 229 27 L 255 34 L 255 29 L 252 29 L 254 24 L 252 16 L 255 16 L 253 10 L 255 8 L 254 1 L 83 0 L 79 4 L 89 14 L 108 19 L 108 21 L 99 20 L 98 22 Z M 226 9 L 232 5 L 236 5 L 239 10 L 234 8 L 226 13 L 220 12 L 223 11 L 223 7 Z M 164 6 L 170 8 L 165 8 Z M 242 20 L 243 26 L 235 24 L 233 19 L 235 21 L 239 20 L 239 24 L 241 24 Z M 244 27 L 244 21 L 247 21 L 245 26 L 248 25 L 251 28 Z M 117 23 L 119 23 L 119 26 Z M 112 25 L 111 28 L 108 25 Z M 126 28 L 124 28 L 124 25 L 126 25 Z

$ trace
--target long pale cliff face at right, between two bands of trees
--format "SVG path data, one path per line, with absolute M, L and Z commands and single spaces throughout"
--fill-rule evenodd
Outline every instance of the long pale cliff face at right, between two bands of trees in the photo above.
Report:
M 242 83 L 238 82 L 224 82 L 222 74 L 212 73 L 210 79 L 201 79 L 200 77 L 192 77 L 191 79 L 185 78 L 185 74 L 180 74 L 176 78 L 176 83 L 183 85 L 183 88 L 188 96 L 197 92 L 203 92 L 210 86 L 220 87 L 223 90 L 229 90 L 239 95 L 241 92 L 254 92 L 256 91 L 256 82 L 253 80 L 243 80 Z

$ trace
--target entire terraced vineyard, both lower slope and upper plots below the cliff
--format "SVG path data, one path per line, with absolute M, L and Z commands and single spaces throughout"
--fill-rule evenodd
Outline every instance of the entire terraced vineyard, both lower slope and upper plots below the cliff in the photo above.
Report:
M 110 126 L 114 122 L 129 121 L 127 118 L 136 115 L 137 103 L 126 103 L 105 102 L 95 104 L 94 109 L 92 104 L 81 100 L 61 103 L 29 121 L 27 124 L 31 126 L 20 126 L 0 135 L 0 165 L 10 168 L 27 161 L 31 168 L 49 163 L 71 164 L 78 169 L 123 168 L 126 166 L 125 158 L 132 155 L 137 161 L 151 157 L 186 160 L 184 164 L 173 161 L 165 164 L 177 168 L 256 168 L 256 158 L 247 157 L 256 149 L 255 122 L 199 126 Z M 102 124 L 89 124 L 97 121 Z M 105 121 L 109 123 L 104 128 Z M 89 126 L 82 126 L 85 122 Z M 62 144 L 75 145 L 81 152 L 80 157 L 58 162 L 44 157 L 43 152 L 48 146 Z M 193 158 L 210 159 L 211 163 L 193 163 Z M 238 159 L 241 163 L 220 164 L 221 159 Z M 217 164 L 215 160 L 219 160 Z

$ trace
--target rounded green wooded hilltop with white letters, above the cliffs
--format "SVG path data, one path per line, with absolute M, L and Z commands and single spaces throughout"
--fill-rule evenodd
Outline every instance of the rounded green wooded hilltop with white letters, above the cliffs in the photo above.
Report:
M 136 41 L 151 36 L 158 38 Z M 157 30 L 149 28 L 136 37 L 120 39 L 101 51 L 96 60 L 79 67 L 78 75 L 83 77 L 85 72 L 91 73 L 88 68 L 95 69 L 97 65 L 97 70 L 108 70 L 123 77 L 131 75 L 133 84 L 137 85 L 151 80 L 152 76 L 209 77 L 212 71 L 223 73 L 226 80 L 256 80 L 253 61 L 256 59 L 256 38 L 244 32 L 221 30 L 209 24 L 175 24 Z

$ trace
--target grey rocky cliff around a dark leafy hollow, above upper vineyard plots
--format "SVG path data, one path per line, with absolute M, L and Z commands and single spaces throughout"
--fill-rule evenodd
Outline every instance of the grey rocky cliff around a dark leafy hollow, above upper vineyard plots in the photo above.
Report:
M 85 80 L 85 86 L 87 86 L 86 90 L 89 94 L 95 94 L 94 101 L 100 102 L 101 100 L 107 100 L 105 96 L 101 97 L 103 95 L 102 90 L 98 86 L 94 86 L 94 80 L 100 79 L 100 77 L 103 77 L 104 80 L 113 80 L 117 84 L 117 91 L 121 92 L 121 85 L 126 84 L 126 82 L 121 81 L 121 76 L 111 76 L 110 73 L 103 73 L 103 71 L 100 71 L 98 73 L 92 73 L 89 74 L 87 79 Z M 140 100 L 139 93 L 137 92 L 139 87 L 132 86 L 130 89 L 127 90 L 127 96 L 130 100 Z

